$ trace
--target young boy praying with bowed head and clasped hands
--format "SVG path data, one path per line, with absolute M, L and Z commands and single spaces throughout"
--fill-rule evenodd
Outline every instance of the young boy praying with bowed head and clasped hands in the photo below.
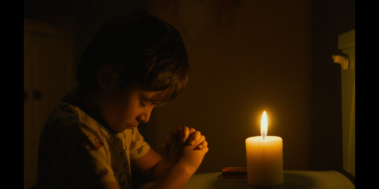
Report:
M 188 71 L 171 25 L 141 9 L 107 22 L 82 56 L 78 88 L 46 121 L 36 188 L 132 188 L 131 165 L 155 180 L 149 188 L 182 188 L 208 152 L 205 137 L 178 128 L 159 155 L 137 125 L 182 91 Z

